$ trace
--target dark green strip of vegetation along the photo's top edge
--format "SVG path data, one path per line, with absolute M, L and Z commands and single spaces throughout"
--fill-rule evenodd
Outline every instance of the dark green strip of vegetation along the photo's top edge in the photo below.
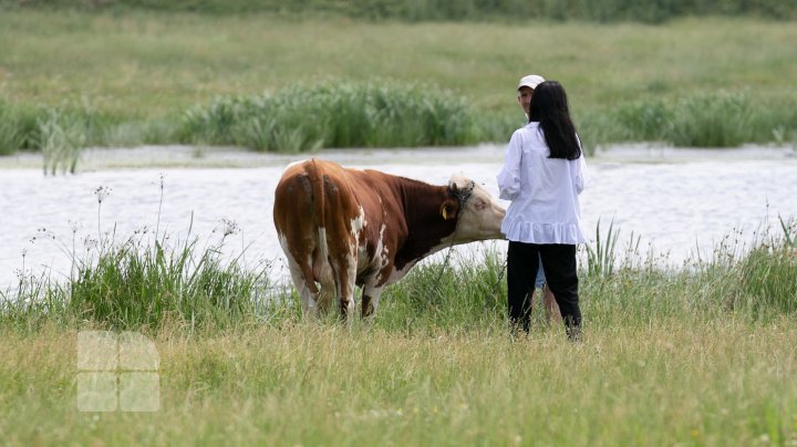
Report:
M 660 23 L 682 15 L 756 15 L 777 20 L 797 18 L 793 3 L 775 0 L 669 0 L 628 2 L 601 1 L 527 1 L 515 0 L 309 0 L 283 2 L 279 0 L 2 0 L 0 7 L 76 8 L 87 10 L 147 9 L 156 11 L 198 11 L 208 14 L 239 14 L 269 12 L 290 15 L 338 14 L 370 20 L 397 19 L 407 21 L 451 20 L 503 20 L 529 19 L 586 20 L 586 21 L 641 21 Z

